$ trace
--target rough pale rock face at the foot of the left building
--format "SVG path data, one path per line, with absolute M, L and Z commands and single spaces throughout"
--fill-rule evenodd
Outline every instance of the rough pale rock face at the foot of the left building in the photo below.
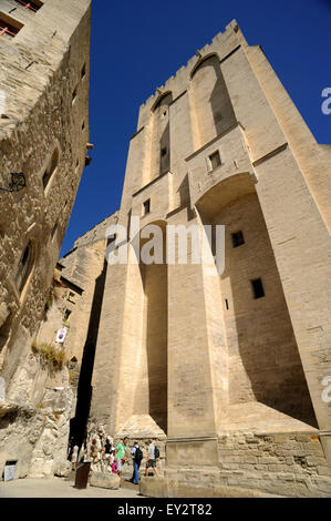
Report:
M 66 368 L 61 372 L 68 380 Z M 42 389 L 38 407 L 0 403 L 0 467 L 17 461 L 15 478 L 66 476 L 71 468 L 66 450 L 73 391 L 68 385 Z

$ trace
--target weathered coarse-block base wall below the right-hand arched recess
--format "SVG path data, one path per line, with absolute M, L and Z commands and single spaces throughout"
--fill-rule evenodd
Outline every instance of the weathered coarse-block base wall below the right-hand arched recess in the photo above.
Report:
M 330 497 L 331 469 L 311 432 L 228 432 L 219 437 L 221 484 L 280 496 Z

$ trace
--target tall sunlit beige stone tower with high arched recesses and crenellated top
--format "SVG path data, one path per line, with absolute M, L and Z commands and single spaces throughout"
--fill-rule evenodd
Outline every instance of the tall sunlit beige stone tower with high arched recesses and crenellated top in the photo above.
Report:
M 165 445 L 165 483 L 330 494 L 330 167 L 236 21 L 141 106 L 118 224 L 225 225 L 219 276 L 107 266 L 90 421 Z

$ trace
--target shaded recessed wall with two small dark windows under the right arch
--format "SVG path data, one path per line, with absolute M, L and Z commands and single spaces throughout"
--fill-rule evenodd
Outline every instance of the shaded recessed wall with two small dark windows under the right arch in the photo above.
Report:
M 226 226 L 219 305 L 229 354 L 229 405 L 258 401 L 318 427 L 257 193 L 224 206 L 216 198 L 215 208 L 221 210 L 204 224 Z M 260 280 L 260 293 L 252 280 Z

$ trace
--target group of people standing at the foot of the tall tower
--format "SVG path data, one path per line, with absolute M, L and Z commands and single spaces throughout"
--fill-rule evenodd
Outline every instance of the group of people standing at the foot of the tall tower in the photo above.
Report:
M 127 443 L 127 437 L 123 438 L 116 447 L 113 447 L 111 441 L 106 439 L 104 447 L 100 449 L 96 439 L 93 439 L 90 449 L 84 450 L 83 453 L 80 453 L 80 448 L 72 443 L 69 449 L 69 459 L 72 463 L 72 470 L 76 469 L 77 461 L 90 461 L 91 470 L 101 470 L 103 472 L 111 471 L 117 473 L 121 478 L 123 476 L 125 462 L 132 458 L 133 474 L 130 481 L 132 483 L 139 484 L 139 469 L 142 460 L 144 459 L 144 450 L 137 441 L 134 442 L 132 449 L 130 449 Z M 158 477 L 158 448 L 152 442 L 152 440 L 148 440 L 146 443 L 145 476 L 148 476 L 152 470 L 153 473 Z

